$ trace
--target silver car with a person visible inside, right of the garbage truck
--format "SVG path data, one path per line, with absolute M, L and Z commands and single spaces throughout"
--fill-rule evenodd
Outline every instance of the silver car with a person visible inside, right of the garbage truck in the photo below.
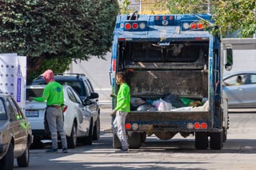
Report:
M 242 83 L 238 83 L 238 77 Z M 223 92 L 229 109 L 256 108 L 256 71 L 241 71 L 223 77 Z

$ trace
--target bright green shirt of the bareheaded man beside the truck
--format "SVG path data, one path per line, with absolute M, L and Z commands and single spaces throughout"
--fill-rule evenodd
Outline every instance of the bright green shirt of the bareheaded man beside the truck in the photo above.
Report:
M 115 110 L 130 112 L 130 87 L 126 83 L 120 85 Z

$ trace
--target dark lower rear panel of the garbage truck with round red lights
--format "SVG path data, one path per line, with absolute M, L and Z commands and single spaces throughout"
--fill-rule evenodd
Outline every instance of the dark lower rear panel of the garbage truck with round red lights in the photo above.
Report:
M 209 112 L 130 112 L 126 130 L 133 132 L 222 132 Z M 130 127 L 130 128 L 129 128 Z

